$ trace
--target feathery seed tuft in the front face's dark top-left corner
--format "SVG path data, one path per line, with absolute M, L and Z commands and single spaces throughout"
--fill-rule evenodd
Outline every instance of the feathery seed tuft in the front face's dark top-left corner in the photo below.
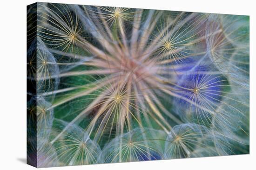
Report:
M 38 8 L 38 36 L 52 49 L 73 54 L 82 34 L 76 11 L 71 11 L 66 4 L 39 4 Z M 62 62 L 66 58 L 61 53 L 58 60 Z

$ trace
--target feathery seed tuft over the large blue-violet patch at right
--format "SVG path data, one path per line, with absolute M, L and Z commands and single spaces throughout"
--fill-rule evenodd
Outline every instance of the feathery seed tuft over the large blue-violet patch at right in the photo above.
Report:
M 229 87 L 228 80 L 222 74 L 207 75 L 210 66 L 197 66 L 190 70 L 189 75 L 184 75 L 177 88 L 177 93 L 182 99 L 179 104 L 178 113 L 185 121 L 209 126 L 212 124 L 212 117 L 217 114 L 216 108 L 222 103 L 222 90 Z M 214 70 L 214 67 L 211 68 Z M 175 101 L 176 102 L 176 101 Z

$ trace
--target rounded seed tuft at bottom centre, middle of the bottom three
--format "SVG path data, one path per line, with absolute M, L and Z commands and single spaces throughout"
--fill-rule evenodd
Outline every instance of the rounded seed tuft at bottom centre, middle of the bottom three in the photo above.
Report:
M 154 139 L 152 129 L 134 129 L 122 136 L 118 136 L 106 145 L 99 159 L 103 163 L 116 163 L 120 161 L 146 161 L 162 158 L 159 141 Z

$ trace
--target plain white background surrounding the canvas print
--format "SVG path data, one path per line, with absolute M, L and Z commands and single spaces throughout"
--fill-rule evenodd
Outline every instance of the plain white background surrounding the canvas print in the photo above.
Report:
M 34 169 L 26 164 L 26 6 L 34 2 L 34 0 L 0 1 L 1 170 Z M 256 4 L 254 0 L 46 0 L 45 2 L 250 15 L 250 155 L 73 166 L 49 168 L 49 170 L 256 169 L 254 95 L 256 94 Z

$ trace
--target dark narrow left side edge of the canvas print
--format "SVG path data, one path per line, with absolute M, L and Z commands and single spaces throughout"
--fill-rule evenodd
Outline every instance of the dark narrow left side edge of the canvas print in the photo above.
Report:
M 37 167 L 37 3 L 27 6 L 27 164 Z

